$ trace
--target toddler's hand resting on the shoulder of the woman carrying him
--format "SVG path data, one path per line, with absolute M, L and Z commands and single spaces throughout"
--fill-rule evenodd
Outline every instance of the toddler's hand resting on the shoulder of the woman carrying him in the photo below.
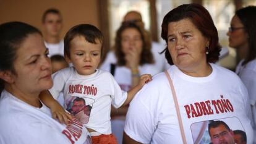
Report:
M 72 119 L 72 116 L 57 101 L 51 106 L 51 114 L 53 115 L 53 119 L 58 119 L 61 124 L 65 123 L 67 125 L 69 124 L 68 120 Z

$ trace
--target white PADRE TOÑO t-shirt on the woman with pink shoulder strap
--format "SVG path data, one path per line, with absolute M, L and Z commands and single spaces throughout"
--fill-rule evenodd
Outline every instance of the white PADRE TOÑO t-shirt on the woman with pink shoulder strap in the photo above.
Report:
M 176 90 L 187 143 L 194 143 L 192 135 L 198 133 L 190 129 L 193 124 L 221 119 L 228 122 L 233 130 L 244 130 L 247 143 L 251 144 L 254 133 L 250 125 L 246 88 L 230 70 L 215 64 L 211 67 L 213 72 L 207 77 L 190 77 L 176 66 L 168 69 Z M 220 110 L 223 108 L 220 103 L 224 101 L 228 103 L 224 106 L 229 106 L 226 111 Z M 173 96 L 164 73 L 153 77 L 132 100 L 124 131 L 141 143 L 182 143 Z

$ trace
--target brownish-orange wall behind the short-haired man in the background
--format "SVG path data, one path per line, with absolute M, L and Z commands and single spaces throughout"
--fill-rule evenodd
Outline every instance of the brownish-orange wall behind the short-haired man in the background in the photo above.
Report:
M 50 7 L 59 9 L 64 19 L 61 38 L 70 27 L 80 23 L 100 26 L 96 0 L 0 0 L 0 23 L 15 20 L 41 29 L 41 16 Z

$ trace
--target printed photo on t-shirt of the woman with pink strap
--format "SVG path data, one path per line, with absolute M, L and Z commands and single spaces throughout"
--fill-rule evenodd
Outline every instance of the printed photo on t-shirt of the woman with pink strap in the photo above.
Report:
M 246 133 L 237 117 L 195 122 L 190 126 L 196 144 L 246 143 Z

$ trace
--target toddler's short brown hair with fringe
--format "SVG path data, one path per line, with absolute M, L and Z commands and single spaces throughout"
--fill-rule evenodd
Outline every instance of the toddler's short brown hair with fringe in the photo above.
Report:
M 80 24 L 75 25 L 70 28 L 69 32 L 66 33 L 64 37 L 64 54 L 70 58 L 70 41 L 72 41 L 75 36 L 83 36 L 85 40 L 89 43 L 96 44 L 96 40 L 100 40 L 100 43 L 103 43 L 103 34 L 101 31 L 96 28 L 94 25 L 90 24 Z M 101 57 L 102 57 L 103 48 L 101 47 Z

